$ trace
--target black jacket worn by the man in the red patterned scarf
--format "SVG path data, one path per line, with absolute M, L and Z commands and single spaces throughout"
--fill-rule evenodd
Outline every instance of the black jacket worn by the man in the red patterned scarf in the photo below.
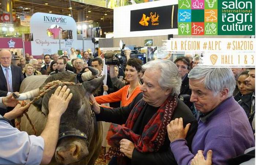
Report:
M 116 124 L 125 124 L 131 110 L 138 101 L 142 99 L 142 93 L 138 94 L 128 106 L 121 108 L 100 108 L 100 114 L 96 115 L 98 121 L 112 122 Z M 183 126 L 191 123 L 191 126 L 186 137 L 189 149 L 191 150 L 191 143 L 197 130 L 197 121 L 194 118 L 189 108 L 178 100 L 178 105 L 172 115 L 172 120 L 175 118 L 183 118 Z M 134 124 L 135 126 L 135 124 Z M 141 127 L 141 126 L 140 126 Z M 136 129 L 136 128 L 135 128 Z M 134 128 L 133 128 L 134 130 Z M 170 149 L 170 141 L 166 133 L 164 144 L 159 151 L 153 153 L 141 153 L 134 149 L 130 164 L 132 165 L 175 165 L 177 162 Z

